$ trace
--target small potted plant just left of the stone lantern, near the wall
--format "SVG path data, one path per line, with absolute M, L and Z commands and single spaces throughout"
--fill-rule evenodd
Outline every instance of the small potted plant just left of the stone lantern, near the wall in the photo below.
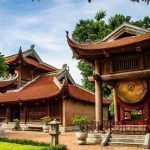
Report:
M 41 120 L 42 120 L 42 123 L 43 123 L 43 131 L 45 133 L 48 133 L 49 128 L 50 128 L 49 122 L 51 121 L 51 118 L 49 116 L 45 116 L 45 117 L 41 118 Z

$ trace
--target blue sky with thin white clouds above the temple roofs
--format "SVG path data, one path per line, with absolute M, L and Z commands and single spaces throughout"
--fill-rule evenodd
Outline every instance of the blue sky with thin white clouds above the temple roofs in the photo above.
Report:
M 35 44 L 44 62 L 59 69 L 68 64 L 73 79 L 81 84 L 65 31 L 71 37 L 80 19 L 92 19 L 100 10 L 106 11 L 106 21 L 115 14 L 132 16 L 133 21 L 150 16 L 150 4 L 130 0 L 0 0 L 0 52 L 9 56 L 20 46 L 27 50 Z

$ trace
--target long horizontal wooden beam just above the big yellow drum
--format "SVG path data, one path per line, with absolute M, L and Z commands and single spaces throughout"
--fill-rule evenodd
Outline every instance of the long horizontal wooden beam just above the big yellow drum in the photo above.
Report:
M 101 78 L 104 81 L 109 81 L 109 80 L 125 79 L 131 77 L 140 78 L 140 77 L 147 77 L 147 76 L 150 76 L 150 69 L 101 75 Z

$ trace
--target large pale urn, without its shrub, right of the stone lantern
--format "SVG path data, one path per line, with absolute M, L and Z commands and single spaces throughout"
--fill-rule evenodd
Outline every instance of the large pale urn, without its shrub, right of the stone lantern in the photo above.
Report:
M 82 132 L 82 131 L 76 132 L 77 143 L 78 143 L 79 145 L 86 144 L 87 136 L 88 136 L 87 131 L 84 131 L 84 132 Z

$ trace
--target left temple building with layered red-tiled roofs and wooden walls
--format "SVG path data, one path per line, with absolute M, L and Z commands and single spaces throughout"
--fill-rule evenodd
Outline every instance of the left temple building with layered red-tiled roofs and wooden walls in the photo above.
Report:
M 12 80 L 8 85 L 5 81 L 6 92 L 0 93 L 0 122 L 4 126 L 17 118 L 22 125 L 36 127 L 44 116 L 56 118 L 63 127 L 71 126 L 75 115 L 94 120 L 95 95 L 75 83 L 67 65 L 57 69 L 44 63 L 33 45 L 23 52 L 20 48 L 18 54 L 5 60 Z M 110 103 L 107 99 L 103 101 L 106 120 Z

